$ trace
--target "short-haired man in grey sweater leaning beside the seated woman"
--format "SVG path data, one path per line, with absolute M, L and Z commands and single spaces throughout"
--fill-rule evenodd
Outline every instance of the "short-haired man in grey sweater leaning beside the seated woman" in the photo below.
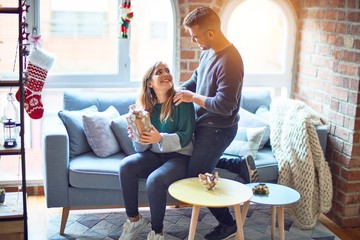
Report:
M 193 10 L 185 17 L 183 26 L 191 41 L 202 50 L 198 68 L 174 97 L 176 105 L 195 103 L 195 143 L 188 166 L 188 176 L 194 177 L 212 172 L 236 135 L 244 66 L 239 52 L 221 31 L 219 16 L 211 8 Z M 239 160 L 241 168 L 247 170 L 242 177 L 251 182 L 256 173 L 253 157 Z M 205 239 L 226 239 L 236 234 L 236 223 L 228 208 L 210 211 L 219 225 Z

